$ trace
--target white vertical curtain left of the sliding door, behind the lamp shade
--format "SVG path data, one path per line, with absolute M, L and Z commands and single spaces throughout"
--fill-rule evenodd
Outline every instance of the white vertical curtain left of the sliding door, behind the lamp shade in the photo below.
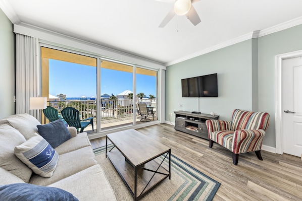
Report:
M 29 97 L 41 96 L 38 39 L 18 33 L 16 37 L 16 113 L 40 121 L 40 110 L 29 110 Z

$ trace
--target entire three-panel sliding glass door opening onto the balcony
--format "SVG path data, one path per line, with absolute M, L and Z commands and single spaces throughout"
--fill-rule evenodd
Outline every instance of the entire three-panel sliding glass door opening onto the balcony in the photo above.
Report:
M 62 119 L 66 107 L 76 108 L 80 120 L 93 117 L 88 134 L 158 120 L 156 70 L 41 46 L 41 80 L 42 96 Z

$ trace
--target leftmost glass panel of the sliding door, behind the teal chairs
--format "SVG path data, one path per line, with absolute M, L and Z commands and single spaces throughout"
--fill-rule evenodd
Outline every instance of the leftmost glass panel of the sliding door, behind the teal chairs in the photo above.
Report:
M 79 120 L 93 117 L 96 125 L 96 58 L 41 47 L 42 96 L 48 106 L 61 111 L 73 107 L 79 111 Z M 64 119 L 63 119 L 64 120 Z M 42 122 L 47 118 L 42 115 Z M 92 126 L 84 131 L 91 133 Z

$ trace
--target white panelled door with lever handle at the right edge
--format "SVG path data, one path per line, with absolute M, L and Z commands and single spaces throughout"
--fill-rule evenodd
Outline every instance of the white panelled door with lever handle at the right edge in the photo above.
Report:
M 302 154 L 302 58 L 282 61 L 283 152 Z

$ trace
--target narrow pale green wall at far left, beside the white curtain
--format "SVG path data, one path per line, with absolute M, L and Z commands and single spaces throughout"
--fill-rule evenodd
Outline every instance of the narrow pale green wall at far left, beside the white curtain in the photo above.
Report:
M 0 119 L 15 114 L 15 34 L 0 9 Z

